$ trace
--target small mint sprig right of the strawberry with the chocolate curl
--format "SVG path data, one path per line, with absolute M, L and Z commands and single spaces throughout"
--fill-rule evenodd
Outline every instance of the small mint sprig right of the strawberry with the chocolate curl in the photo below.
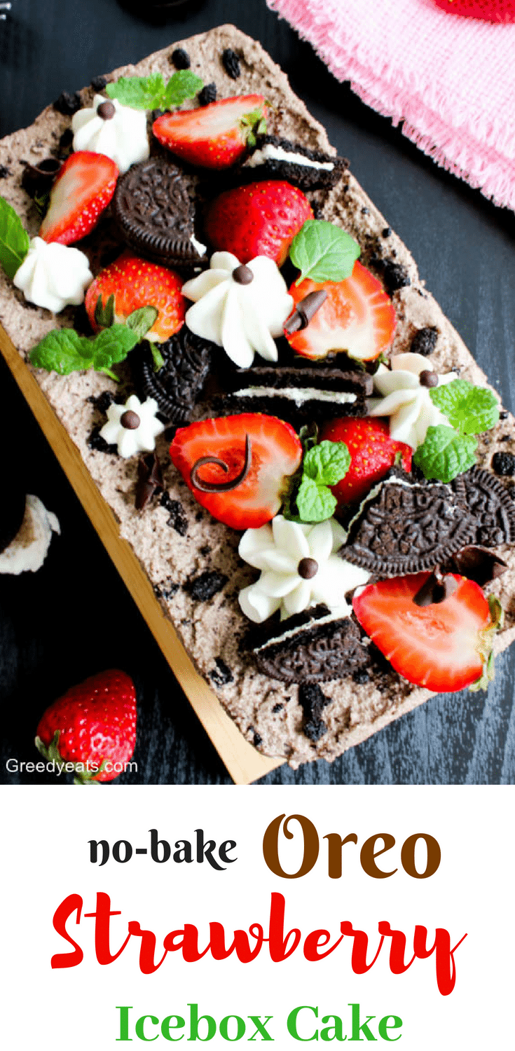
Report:
M 309 440 L 309 439 L 308 439 Z M 283 510 L 286 518 L 303 522 L 322 522 L 330 518 L 336 497 L 329 486 L 342 481 L 350 466 L 350 453 L 343 441 L 321 441 L 305 453 L 300 485 L 294 498 L 297 515 L 290 502 Z M 298 479 L 296 479 L 298 481 Z

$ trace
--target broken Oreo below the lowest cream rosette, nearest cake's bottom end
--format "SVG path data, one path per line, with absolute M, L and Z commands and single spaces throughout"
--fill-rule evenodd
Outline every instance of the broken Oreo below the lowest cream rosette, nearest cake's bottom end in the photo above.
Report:
M 342 679 L 370 663 L 354 619 L 333 620 L 325 606 L 267 626 L 265 640 L 258 634 L 250 647 L 260 672 L 282 682 Z

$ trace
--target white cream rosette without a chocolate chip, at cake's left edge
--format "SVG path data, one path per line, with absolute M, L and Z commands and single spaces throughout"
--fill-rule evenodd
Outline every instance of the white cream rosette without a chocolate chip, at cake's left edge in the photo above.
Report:
M 58 314 L 68 305 L 84 302 L 92 282 L 89 261 L 84 252 L 56 241 L 33 238 L 25 259 L 14 276 L 28 303 Z

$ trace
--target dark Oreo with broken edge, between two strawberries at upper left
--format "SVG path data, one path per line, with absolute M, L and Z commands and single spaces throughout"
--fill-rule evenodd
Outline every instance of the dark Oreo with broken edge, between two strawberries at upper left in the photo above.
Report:
M 112 199 L 115 221 L 124 241 L 156 263 L 203 267 L 195 247 L 193 209 L 180 168 L 166 158 L 135 164 L 118 181 Z

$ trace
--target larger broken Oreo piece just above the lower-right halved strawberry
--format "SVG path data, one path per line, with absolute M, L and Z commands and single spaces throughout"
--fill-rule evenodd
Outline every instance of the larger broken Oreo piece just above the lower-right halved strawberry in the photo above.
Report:
M 462 476 L 452 486 L 413 482 L 393 469 L 351 520 L 341 555 L 382 577 L 432 570 L 473 542 Z

